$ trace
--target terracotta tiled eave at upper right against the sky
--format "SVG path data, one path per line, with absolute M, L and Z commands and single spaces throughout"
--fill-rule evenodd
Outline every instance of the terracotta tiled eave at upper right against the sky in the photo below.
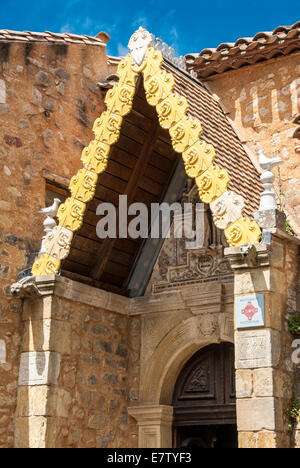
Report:
M 207 78 L 299 50 L 300 21 L 291 26 L 279 26 L 274 31 L 259 32 L 252 38 L 242 37 L 235 43 L 224 42 L 198 54 L 188 54 L 186 61 L 188 69 L 195 70 L 199 78 Z

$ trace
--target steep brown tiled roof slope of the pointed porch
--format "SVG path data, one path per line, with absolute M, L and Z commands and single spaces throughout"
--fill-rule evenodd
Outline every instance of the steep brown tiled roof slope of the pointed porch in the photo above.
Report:
M 245 213 L 251 216 L 258 209 L 262 192 L 259 173 L 219 103 L 199 81 L 187 73 L 179 71 L 166 61 L 163 67 L 174 75 L 175 90 L 188 100 L 190 115 L 201 122 L 202 137 L 216 150 L 216 163 L 227 169 L 230 175 L 229 189 L 244 197 Z

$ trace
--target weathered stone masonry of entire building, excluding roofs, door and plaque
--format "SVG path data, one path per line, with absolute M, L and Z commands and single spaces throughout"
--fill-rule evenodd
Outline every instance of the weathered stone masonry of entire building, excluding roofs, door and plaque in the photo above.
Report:
M 263 148 L 285 159 L 296 230 L 298 167 L 290 138 L 299 112 L 298 58 L 206 83 L 253 153 Z M 234 290 L 227 265 L 225 282 L 156 294 L 149 284 L 137 299 L 54 275 L 10 296 L 9 285 L 40 247 L 46 179 L 67 183 L 81 167 L 92 122 L 104 110 L 96 83 L 114 68 L 104 44 L 1 43 L 0 448 L 171 447 L 180 369 L 221 341 L 235 344 L 239 446 L 299 447 L 299 425 L 289 431 L 285 417 L 291 397 L 300 396 L 287 329 L 287 318 L 299 311 L 299 242 L 286 233 L 274 229 L 270 243 L 228 249 L 225 259 L 222 253 Z M 240 330 L 235 297 L 253 293 L 265 296 L 265 327 Z

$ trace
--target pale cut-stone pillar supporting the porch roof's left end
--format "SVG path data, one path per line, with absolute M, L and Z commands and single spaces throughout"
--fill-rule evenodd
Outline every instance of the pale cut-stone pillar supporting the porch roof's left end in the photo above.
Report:
M 57 386 L 61 355 L 71 352 L 70 324 L 59 317 L 54 275 L 12 289 L 24 298 L 15 447 L 53 448 L 57 418 L 67 416 L 71 404 Z

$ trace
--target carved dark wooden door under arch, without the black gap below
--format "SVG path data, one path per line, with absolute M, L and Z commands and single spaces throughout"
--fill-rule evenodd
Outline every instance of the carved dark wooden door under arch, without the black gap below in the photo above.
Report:
M 174 425 L 236 423 L 234 347 L 210 345 L 182 369 L 175 386 Z

